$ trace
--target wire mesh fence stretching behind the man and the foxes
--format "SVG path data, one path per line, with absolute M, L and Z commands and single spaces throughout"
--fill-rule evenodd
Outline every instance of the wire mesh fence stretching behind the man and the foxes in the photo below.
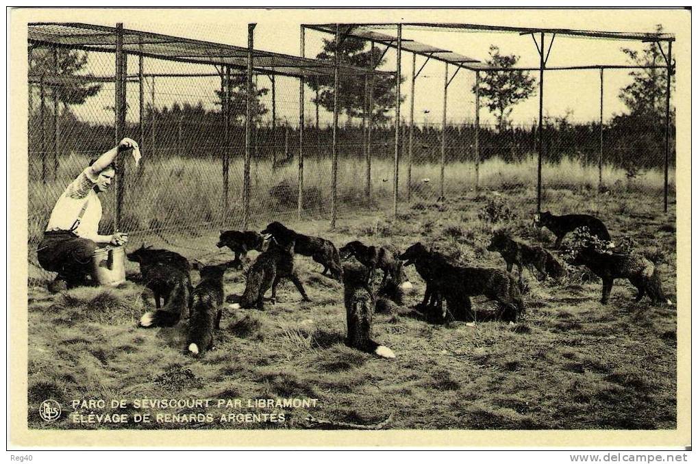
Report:
M 313 40 L 308 40 L 307 55 L 321 58 L 331 41 Z M 537 121 L 501 125 L 476 120 L 472 76 L 463 72 L 456 78 L 452 71 L 446 76 L 453 80 L 445 123 L 426 114 L 419 121 L 419 114 L 415 119 L 403 107 L 401 124 L 396 124 L 394 100 L 390 103 L 395 73 L 378 70 L 396 68 L 388 47 L 352 45 L 355 52 L 367 53 L 371 63 L 368 73 L 339 73 L 343 93 L 335 128 L 331 61 L 313 64 L 328 66 L 318 75 L 255 69 L 248 119 L 244 61 L 230 66 L 199 62 L 203 59 L 185 62 L 165 52 L 156 57 L 152 50 L 126 52 L 119 81 L 114 50 L 48 41 L 30 45 L 30 262 L 36 263 L 36 244 L 59 195 L 119 137 L 138 140 L 143 158 L 138 167 L 130 160 L 124 163 L 120 197 L 116 189 L 101 195 L 101 233 L 118 227 L 135 239 L 198 253 L 211 251 L 197 245 L 200 237 L 243 227 L 246 215 L 248 228 L 277 219 L 331 220 L 333 209 L 340 220 L 390 216 L 396 138 L 399 207 L 475 190 L 535 197 L 541 148 Z M 431 91 L 443 91 L 443 82 L 434 84 L 443 79 L 439 72 L 433 63 L 425 68 L 435 77 L 428 82 Z M 403 100 L 408 93 L 403 82 Z M 449 117 L 454 106 L 461 111 L 458 121 Z M 463 112 L 463 107 L 471 109 Z M 542 130 L 544 195 L 558 190 L 641 192 L 647 202 L 656 202 L 658 211 L 662 208 L 664 128 L 655 118 L 614 117 L 602 125 L 546 117 Z M 247 211 L 246 150 L 251 161 Z M 672 196 L 674 159 L 669 157 Z M 603 207 L 601 197 L 597 208 Z M 38 267 L 30 275 L 49 276 Z

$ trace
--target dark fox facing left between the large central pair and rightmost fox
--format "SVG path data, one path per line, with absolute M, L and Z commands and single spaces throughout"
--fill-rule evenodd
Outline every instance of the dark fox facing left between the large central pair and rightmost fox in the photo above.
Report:
M 560 278 L 565 275 L 565 268 L 548 250 L 542 246 L 529 246 L 512 239 L 505 232 L 497 232 L 492 236 L 488 251 L 498 251 L 507 263 L 507 272 L 511 272 L 514 264 L 519 268 L 519 286 L 523 278 L 523 267 L 527 267 L 531 274 L 537 269 L 545 280 L 548 275 Z M 535 275 L 535 274 L 534 274 Z M 540 280 L 540 279 L 539 279 Z

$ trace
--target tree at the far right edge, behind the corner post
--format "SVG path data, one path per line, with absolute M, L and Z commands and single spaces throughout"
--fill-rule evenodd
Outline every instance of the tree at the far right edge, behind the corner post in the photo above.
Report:
M 657 24 L 656 32 L 662 33 L 662 24 Z M 635 66 L 666 65 L 660 45 L 648 43 L 643 50 L 621 48 L 628 62 Z M 666 53 L 667 50 L 664 50 Z M 672 63 L 673 66 L 673 63 Z M 667 71 L 665 69 L 639 69 L 628 73 L 632 82 L 621 89 L 618 96 L 630 110 L 630 115 L 649 118 L 664 117 L 667 98 Z M 672 73 L 673 75 L 673 73 Z

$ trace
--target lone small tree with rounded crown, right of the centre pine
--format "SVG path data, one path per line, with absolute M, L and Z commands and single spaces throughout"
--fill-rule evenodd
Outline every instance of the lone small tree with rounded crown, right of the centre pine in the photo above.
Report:
M 514 54 L 500 54 L 499 47 L 490 45 L 487 66 L 491 68 L 513 68 L 519 61 Z M 501 131 L 507 124 L 517 103 L 526 100 L 535 90 L 535 77 L 526 71 L 480 71 L 480 97 L 484 105 L 497 118 Z M 473 86 L 473 92 L 477 90 Z

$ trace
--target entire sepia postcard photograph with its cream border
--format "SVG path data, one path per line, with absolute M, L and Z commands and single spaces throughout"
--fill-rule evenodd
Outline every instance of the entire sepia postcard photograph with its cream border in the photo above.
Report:
M 690 446 L 690 9 L 8 18 L 10 440 Z

